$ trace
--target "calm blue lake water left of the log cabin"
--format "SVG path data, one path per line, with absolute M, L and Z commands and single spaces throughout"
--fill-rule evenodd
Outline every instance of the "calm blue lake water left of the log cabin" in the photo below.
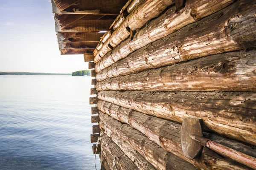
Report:
M 0 170 L 94 170 L 90 84 L 91 77 L 0 76 Z

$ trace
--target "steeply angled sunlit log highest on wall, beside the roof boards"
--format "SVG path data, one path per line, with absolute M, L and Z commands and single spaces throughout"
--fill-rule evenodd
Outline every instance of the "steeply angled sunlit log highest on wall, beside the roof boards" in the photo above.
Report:
M 114 48 L 130 35 L 130 30 L 127 28 L 130 28 L 132 31 L 141 28 L 148 22 L 148 20 L 157 17 L 170 5 L 172 5 L 172 0 L 142 1 L 138 4 L 136 10 L 132 11 L 131 14 L 125 18 L 121 25 L 113 32 L 111 37 L 104 43 L 102 49 L 96 54 L 94 62 L 98 62 L 101 57 L 104 57 L 108 51 L 112 50 L 109 48 L 109 45 Z

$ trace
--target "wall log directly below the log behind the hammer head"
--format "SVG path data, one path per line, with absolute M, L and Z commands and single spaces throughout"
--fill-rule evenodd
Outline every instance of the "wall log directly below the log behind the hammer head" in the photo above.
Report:
M 99 115 L 101 121 L 106 125 L 106 127 L 108 127 L 114 134 L 131 144 L 134 149 L 143 155 L 145 159 L 158 170 L 196 169 L 192 164 L 178 158 L 172 153 L 167 152 L 162 147 L 149 140 L 145 135 L 143 135 L 143 133 L 131 126 L 122 124 L 105 113 L 100 112 Z

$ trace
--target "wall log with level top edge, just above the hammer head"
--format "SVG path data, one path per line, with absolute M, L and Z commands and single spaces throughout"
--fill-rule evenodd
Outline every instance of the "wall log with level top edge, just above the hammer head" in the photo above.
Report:
M 101 100 L 183 122 L 197 117 L 217 133 L 256 145 L 256 94 L 247 92 L 102 91 Z

